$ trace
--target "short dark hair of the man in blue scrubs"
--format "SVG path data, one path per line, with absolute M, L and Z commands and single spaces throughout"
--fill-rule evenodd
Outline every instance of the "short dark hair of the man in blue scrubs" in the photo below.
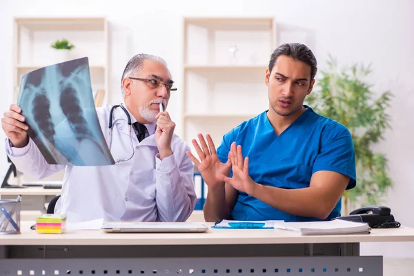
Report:
M 311 80 L 315 78 L 317 72 L 316 58 L 308 46 L 301 43 L 284 43 L 277 47 L 270 56 L 270 72 L 272 72 L 273 66 L 275 66 L 276 60 L 280 56 L 287 56 L 295 61 L 302 61 L 308 64 L 308 66 L 311 66 Z

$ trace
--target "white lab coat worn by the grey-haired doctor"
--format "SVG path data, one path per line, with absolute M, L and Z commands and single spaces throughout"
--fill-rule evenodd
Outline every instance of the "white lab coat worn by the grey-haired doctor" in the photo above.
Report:
M 97 108 L 103 136 L 109 144 L 108 119 L 112 106 Z M 136 121 L 133 119 L 132 123 Z M 115 160 L 132 154 L 126 115 L 114 111 L 111 154 Z M 55 213 L 66 214 L 68 221 L 186 221 L 197 197 L 194 190 L 193 163 L 186 155 L 189 147 L 177 135 L 172 137 L 173 155 L 162 161 L 158 156 L 153 132 L 139 143 L 132 129 L 135 155 L 129 161 L 112 166 L 64 166 L 46 162 L 30 139 L 25 148 L 6 152 L 17 170 L 42 179 L 66 168 L 61 197 Z

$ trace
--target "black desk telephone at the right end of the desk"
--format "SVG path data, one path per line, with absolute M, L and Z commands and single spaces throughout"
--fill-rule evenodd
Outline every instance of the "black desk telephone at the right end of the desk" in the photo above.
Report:
M 371 228 L 398 228 L 400 222 L 395 221 L 391 209 L 385 206 L 366 206 L 353 210 L 348 216 L 337 217 L 348 221 L 367 222 Z

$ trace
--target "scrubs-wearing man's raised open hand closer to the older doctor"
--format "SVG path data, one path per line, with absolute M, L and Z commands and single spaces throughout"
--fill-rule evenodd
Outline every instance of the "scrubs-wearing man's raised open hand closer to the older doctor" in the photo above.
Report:
M 207 135 L 206 137 L 208 145 L 206 144 L 203 135 L 199 134 L 198 138 L 201 147 L 195 139 L 193 139 L 193 145 L 200 161 L 189 151 L 187 152 L 187 155 L 194 162 L 195 166 L 197 166 L 201 177 L 203 177 L 207 186 L 209 188 L 215 188 L 215 186 L 218 186 L 221 183 L 221 181 L 217 179 L 217 175 L 228 175 L 230 173 L 230 160 L 228 160 L 226 164 L 219 160 L 213 139 L 211 139 L 210 135 Z

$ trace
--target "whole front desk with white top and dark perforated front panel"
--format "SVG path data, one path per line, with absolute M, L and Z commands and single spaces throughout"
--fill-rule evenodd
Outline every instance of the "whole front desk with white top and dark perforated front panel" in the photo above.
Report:
M 211 226 L 211 224 L 208 224 Z M 0 275 L 382 275 L 381 256 L 359 256 L 359 242 L 413 242 L 413 228 L 370 235 L 300 237 L 282 230 L 108 234 L 69 231 L 0 235 Z M 32 270 L 32 274 L 30 273 Z M 1 274 L 3 273 L 3 274 Z M 8 273 L 8 274 L 7 274 Z M 58 274 L 56 274 L 58 273 Z

